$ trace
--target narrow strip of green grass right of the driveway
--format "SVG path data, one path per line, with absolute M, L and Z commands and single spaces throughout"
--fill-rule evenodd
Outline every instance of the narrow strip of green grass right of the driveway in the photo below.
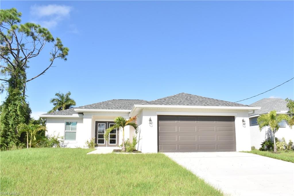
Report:
M 269 151 L 251 150 L 251 151 L 245 151 L 245 153 L 253 153 L 256 155 L 261 155 L 265 157 L 270 157 L 270 158 L 294 163 L 294 151 L 272 153 Z

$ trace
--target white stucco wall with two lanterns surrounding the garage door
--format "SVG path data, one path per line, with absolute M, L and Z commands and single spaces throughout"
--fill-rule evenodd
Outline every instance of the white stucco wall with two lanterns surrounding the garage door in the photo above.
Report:
M 157 152 L 157 115 L 234 115 L 236 131 L 236 150 L 250 150 L 250 129 L 248 111 L 238 110 L 197 110 L 197 109 L 142 109 L 138 116 L 140 142 L 138 150 L 143 153 Z M 149 125 L 149 118 L 152 125 Z M 242 119 L 246 125 L 243 126 Z

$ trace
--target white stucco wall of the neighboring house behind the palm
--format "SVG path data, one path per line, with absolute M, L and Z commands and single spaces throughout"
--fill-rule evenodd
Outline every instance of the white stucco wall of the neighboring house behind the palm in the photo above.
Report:
M 250 137 L 251 146 L 255 146 L 256 149 L 259 149 L 261 147 L 260 144 L 268 137 L 271 137 L 273 140 L 273 136 L 271 135 L 269 127 L 265 127 L 260 131 L 258 125 L 250 126 Z M 287 124 L 286 127 L 279 128 L 278 132 L 275 134 L 275 137 L 278 139 L 282 139 L 284 137 L 287 143 L 289 140 L 294 142 L 294 128 L 290 129 L 289 125 Z

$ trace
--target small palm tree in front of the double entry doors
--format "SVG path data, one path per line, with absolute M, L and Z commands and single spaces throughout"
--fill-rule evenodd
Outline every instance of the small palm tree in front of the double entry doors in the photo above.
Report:
M 122 116 L 119 116 L 119 117 L 116 117 L 114 119 L 114 125 L 111 126 L 110 128 L 106 129 L 105 133 L 104 133 L 104 139 L 106 141 L 108 141 L 108 136 L 109 136 L 109 133 L 113 130 L 113 129 L 119 129 L 120 127 L 123 128 L 123 148 L 122 148 L 122 151 L 125 152 L 125 127 L 126 126 L 132 126 L 133 128 L 135 128 L 135 131 L 137 133 L 137 130 L 138 130 L 138 125 L 132 121 L 137 121 L 137 116 L 134 116 L 130 119 L 125 119 L 123 118 Z

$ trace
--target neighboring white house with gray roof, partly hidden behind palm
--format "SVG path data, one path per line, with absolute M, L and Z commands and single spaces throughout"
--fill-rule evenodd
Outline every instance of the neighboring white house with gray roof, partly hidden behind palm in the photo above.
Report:
M 266 114 L 272 110 L 276 110 L 277 114 L 288 114 L 287 102 L 284 99 L 272 99 L 272 98 L 264 98 L 255 103 L 250 104 L 253 107 L 260 107 L 260 110 L 255 110 L 253 112 L 249 112 L 250 119 L 250 135 L 251 135 L 251 146 L 255 146 L 255 148 L 259 149 L 261 147 L 261 143 L 267 139 L 271 138 L 273 140 L 273 135 L 269 127 L 263 128 L 261 131 L 258 128 L 257 118 L 261 114 Z M 294 128 L 290 129 L 289 125 L 285 120 L 283 120 L 279 124 L 280 128 L 278 132 L 275 134 L 275 137 L 278 139 L 285 138 L 286 142 L 289 140 L 294 141 Z

